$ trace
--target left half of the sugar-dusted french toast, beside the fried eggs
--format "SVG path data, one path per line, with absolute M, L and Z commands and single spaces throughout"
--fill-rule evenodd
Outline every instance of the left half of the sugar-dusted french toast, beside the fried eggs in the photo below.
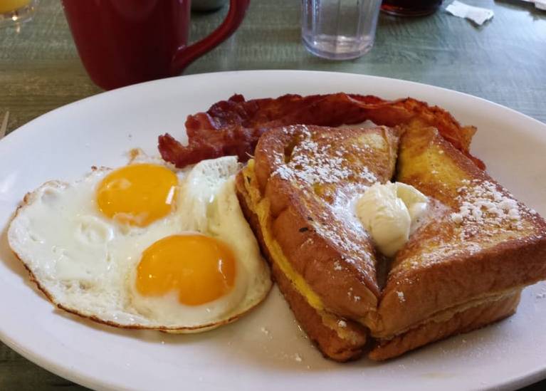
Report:
M 377 254 L 352 202 L 392 177 L 398 141 L 389 127 L 279 127 L 261 137 L 236 179 L 275 281 L 310 339 L 333 360 L 362 355 L 364 325 L 375 322 Z

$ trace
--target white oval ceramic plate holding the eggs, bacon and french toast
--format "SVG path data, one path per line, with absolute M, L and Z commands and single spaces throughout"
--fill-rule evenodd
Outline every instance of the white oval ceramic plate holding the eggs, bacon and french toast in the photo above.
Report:
M 127 390 L 513 389 L 546 377 L 546 284 L 525 289 L 518 313 L 387 363 L 336 364 L 313 348 L 275 289 L 256 311 L 199 335 L 117 330 L 69 316 L 28 282 L 6 244 L 23 195 L 92 165 L 157 153 L 157 135 L 184 137 L 187 115 L 243 93 L 411 96 L 478 127 L 473 152 L 516 197 L 546 216 L 546 125 L 451 90 L 342 73 L 252 71 L 158 80 L 95 95 L 41 116 L 0 142 L 0 338 L 23 356 L 82 385 Z

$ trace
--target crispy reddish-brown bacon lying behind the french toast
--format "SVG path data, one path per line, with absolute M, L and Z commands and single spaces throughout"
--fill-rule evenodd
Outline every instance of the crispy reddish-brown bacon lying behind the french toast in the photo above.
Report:
M 346 93 L 253 100 L 233 95 L 229 100 L 214 103 L 206 113 L 188 116 L 187 146 L 169 134 L 159 136 L 159 152 L 164 160 L 177 167 L 226 155 L 237 155 L 241 162 L 246 162 L 260 136 L 271 127 L 298 124 L 335 127 L 365 120 L 386 126 L 434 126 L 478 167 L 485 168 L 468 151 L 476 127 L 461 126 L 446 110 L 413 98 L 384 100 Z

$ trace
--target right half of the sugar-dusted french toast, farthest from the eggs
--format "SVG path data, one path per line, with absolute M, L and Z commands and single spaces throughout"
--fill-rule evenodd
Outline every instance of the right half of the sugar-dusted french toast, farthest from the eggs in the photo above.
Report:
M 429 222 L 392 263 L 370 358 L 401 355 L 515 311 L 546 278 L 546 223 L 433 128 L 401 136 L 397 181 L 431 199 Z

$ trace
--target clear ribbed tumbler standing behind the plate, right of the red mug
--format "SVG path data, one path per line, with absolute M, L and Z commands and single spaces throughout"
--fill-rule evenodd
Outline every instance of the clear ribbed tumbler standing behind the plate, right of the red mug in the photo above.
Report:
M 315 56 L 349 60 L 374 45 L 381 0 L 301 0 L 303 44 Z

